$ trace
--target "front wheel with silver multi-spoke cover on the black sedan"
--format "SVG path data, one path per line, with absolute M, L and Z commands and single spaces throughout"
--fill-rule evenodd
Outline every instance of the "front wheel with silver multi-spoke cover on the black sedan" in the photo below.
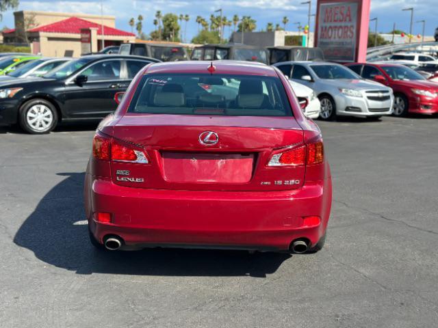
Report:
M 49 133 L 57 125 L 55 106 L 44 99 L 32 99 L 20 108 L 19 122 L 21 128 L 32 135 Z

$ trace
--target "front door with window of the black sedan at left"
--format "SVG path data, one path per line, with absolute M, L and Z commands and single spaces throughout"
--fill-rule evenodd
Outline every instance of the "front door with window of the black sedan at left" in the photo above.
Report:
M 66 81 L 64 110 L 69 118 L 103 118 L 114 111 L 114 94 L 125 91 L 129 81 L 122 80 L 121 59 L 101 59 L 75 74 L 85 75 L 88 81 L 75 83 L 75 77 Z

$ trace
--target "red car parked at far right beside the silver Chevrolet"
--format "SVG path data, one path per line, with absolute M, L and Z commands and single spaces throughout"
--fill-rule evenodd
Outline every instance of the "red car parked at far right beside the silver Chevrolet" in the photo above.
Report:
M 427 81 L 411 68 L 399 64 L 346 64 L 348 68 L 394 90 L 394 115 L 438 113 L 438 83 Z

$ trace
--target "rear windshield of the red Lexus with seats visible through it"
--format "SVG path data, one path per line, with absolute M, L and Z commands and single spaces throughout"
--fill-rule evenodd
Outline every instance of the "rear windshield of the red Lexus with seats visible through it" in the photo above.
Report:
M 279 78 L 230 74 L 146 74 L 128 112 L 292 116 Z

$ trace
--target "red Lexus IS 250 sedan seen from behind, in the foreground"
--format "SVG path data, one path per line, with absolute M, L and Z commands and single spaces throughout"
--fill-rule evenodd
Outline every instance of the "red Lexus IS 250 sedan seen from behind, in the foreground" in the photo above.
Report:
M 101 249 L 318 251 L 331 210 L 318 126 L 276 68 L 153 64 L 96 130 L 86 172 Z

